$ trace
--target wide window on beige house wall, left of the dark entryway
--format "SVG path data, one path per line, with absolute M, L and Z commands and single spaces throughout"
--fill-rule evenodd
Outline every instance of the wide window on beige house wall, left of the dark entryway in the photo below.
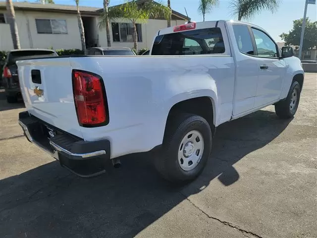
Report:
M 39 34 L 67 34 L 66 20 L 35 19 Z

